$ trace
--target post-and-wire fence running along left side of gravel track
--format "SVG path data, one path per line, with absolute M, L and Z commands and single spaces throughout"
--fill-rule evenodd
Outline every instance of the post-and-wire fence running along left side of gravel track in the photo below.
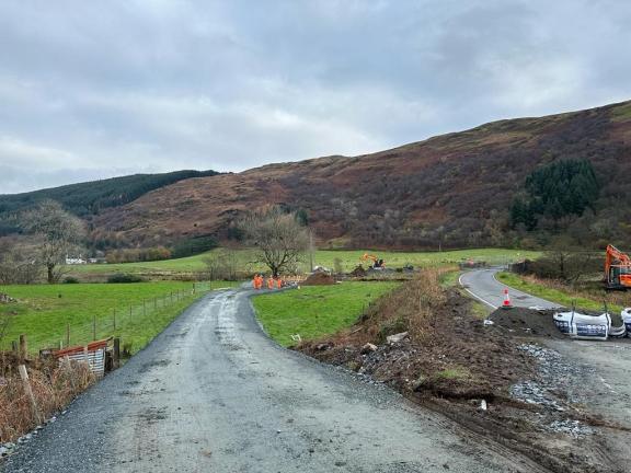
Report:
M 44 349 L 67 348 L 77 345 L 87 345 L 90 342 L 110 337 L 125 336 L 133 338 L 134 332 L 141 332 L 144 326 L 153 322 L 156 315 L 163 314 L 169 308 L 181 302 L 193 302 L 215 289 L 211 282 L 194 282 L 191 288 L 174 289 L 160 296 L 144 298 L 140 303 L 118 301 L 107 312 L 95 313 L 91 320 L 81 324 L 60 323 L 50 333 L 30 337 L 25 333 L 21 341 L 12 341 L 14 351 L 25 350 L 31 354 Z M 185 305 L 184 305 L 185 307 Z M 26 344 L 26 346 L 23 346 Z

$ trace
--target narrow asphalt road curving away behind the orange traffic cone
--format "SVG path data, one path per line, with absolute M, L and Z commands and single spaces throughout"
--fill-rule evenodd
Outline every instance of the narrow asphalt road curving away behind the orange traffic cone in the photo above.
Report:
M 543 309 L 554 309 L 559 304 L 530 296 L 495 279 L 498 268 L 475 269 L 463 273 L 460 276 L 460 285 L 475 299 L 485 303 L 492 309 L 497 309 L 504 302 L 504 289 L 508 289 L 510 302 L 515 307 L 540 307 Z

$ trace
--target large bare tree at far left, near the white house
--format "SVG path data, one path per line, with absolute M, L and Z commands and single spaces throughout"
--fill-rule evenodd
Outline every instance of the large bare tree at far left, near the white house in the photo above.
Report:
M 54 200 L 44 200 L 22 217 L 23 227 L 37 239 L 37 262 L 46 268 L 49 284 L 67 273 L 62 263 L 78 252 L 85 236 L 83 222 Z

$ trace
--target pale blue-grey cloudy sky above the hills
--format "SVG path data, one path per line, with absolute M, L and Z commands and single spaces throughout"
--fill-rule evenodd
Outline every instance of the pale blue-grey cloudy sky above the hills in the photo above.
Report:
M 626 0 L 2 0 L 0 194 L 631 99 Z

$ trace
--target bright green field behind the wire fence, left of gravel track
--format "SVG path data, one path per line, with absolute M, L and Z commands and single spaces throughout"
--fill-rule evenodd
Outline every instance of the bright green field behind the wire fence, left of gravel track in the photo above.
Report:
M 95 316 L 96 338 L 119 336 L 137 351 L 210 287 L 232 285 L 197 282 L 195 295 L 192 282 L 179 281 L 1 286 L 18 302 L 0 305 L 0 324 L 8 321 L 0 347 L 9 348 L 20 334 L 26 334 L 32 351 L 58 347 L 67 324 L 70 345 L 84 344 L 93 339 Z

